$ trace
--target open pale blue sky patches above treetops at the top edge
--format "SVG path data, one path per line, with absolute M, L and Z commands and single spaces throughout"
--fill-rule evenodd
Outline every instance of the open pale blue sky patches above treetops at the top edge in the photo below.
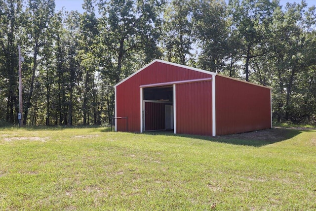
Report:
M 280 4 L 285 5 L 286 2 L 290 3 L 300 3 L 301 0 L 280 0 Z M 62 7 L 65 7 L 65 10 L 78 10 L 78 12 L 83 13 L 84 10 L 82 9 L 83 0 L 55 0 L 56 8 L 55 11 L 59 11 Z M 316 5 L 316 0 L 306 0 L 308 6 Z

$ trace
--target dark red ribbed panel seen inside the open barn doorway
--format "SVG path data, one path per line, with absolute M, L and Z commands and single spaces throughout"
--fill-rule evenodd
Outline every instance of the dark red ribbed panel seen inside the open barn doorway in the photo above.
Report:
M 145 102 L 145 130 L 165 129 L 165 106 L 165 103 Z

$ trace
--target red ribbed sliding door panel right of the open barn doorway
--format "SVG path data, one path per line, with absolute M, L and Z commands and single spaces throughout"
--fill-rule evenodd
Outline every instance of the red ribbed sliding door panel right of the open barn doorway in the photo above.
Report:
M 176 132 L 212 135 L 212 82 L 176 85 Z

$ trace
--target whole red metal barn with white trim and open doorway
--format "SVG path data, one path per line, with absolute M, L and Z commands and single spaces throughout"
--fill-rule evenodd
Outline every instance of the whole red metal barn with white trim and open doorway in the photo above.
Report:
M 116 131 L 216 136 L 267 129 L 271 89 L 154 60 L 115 85 L 115 117 Z

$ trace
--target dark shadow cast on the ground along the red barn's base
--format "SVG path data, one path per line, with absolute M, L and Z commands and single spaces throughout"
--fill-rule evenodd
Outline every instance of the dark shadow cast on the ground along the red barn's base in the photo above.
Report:
M 237 133 L 237 134 L 232 134 L 232 135 L 222 135 L 222 136 L 216 136 L 216 137 L 201 136 L 201 135 L 174 134 L 169 131 L 144 132 L 144 134 L 188 137 L 188 138 L 197 138 L 201 140 L 213 141 L 213 142 L 219 142 L 219 143 L 261 147 L 261 146 L 265 146 L 265 145 L 269 145 L 269 144 L 273 144 L 276 142 L 290 139 L 300 134 L 302 131 L 303 130 L 297 130 L 297 129 L 271 128 L 271 129 L 265 129 L 265 130 Z M 304 131 L 309 131 L 309 130 L 304 130 Z

